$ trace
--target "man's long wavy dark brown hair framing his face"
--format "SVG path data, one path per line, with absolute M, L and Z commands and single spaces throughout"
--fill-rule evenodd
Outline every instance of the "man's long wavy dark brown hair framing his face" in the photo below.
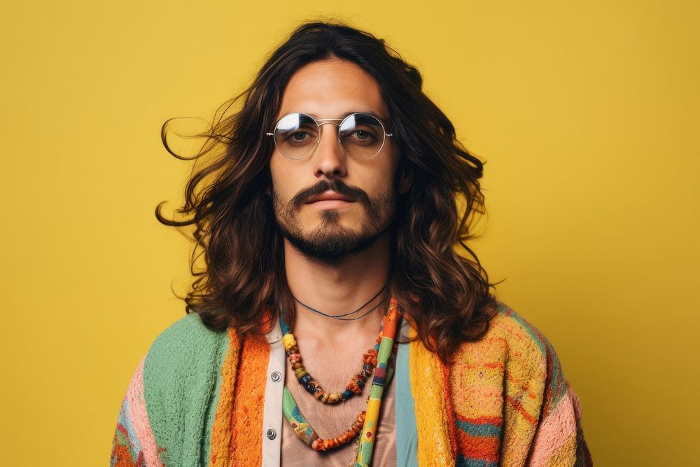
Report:
M 158 221 L 193 229 L 195 249 L 186 312 L 197 312 L 212 330 L 233 326 L 260 335 L 265 309 L 276 319 L 294 302 L 284 273 L 283 240 L 269 193 L 274 127 L 290 77 L 310 62 L 337 57 L 358 64 L 378 83 L 388 106 L 400 169 L 413 174 L 412 189 L 398 199 L 391 228 L 388 288 L 426 346 L 449 360 L 456 347 L 478 340 L 489 326 L 496 298 L 488 274 L 466 242 L 484 214 L 479 186 L 483 162 L 456 139 L 447 116 L 421 90 L 423 78 L 383 40 L 337 22 L 309 22 L 269 56 L 253 83 L 223 104 L 185 188 L 183 205 Z M 236 107 L 239 107 L 238 109 Z M 235 109 L 235 110 L 232 110 Z M 204 158 L 208 155 L 207 158 Z M 211 156 L 211 157 L 209 157 Z M 197 167 L 198 166 L 198 167 Z M 465 256 L 455 247 L 461 245 Z M 195 263 L 202 266 L 196 266 Z M 293 321 L 293 312 L 286 319 Z

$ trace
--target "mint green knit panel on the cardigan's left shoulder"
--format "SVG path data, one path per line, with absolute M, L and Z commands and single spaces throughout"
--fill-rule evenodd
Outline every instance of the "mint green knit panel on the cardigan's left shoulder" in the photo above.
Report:
M 196 313 L 159 335 L 144 363 L 144 398 L 166 466 L 207 465 L 211 405 L 228 349 L 228 333 L 208 330 Z

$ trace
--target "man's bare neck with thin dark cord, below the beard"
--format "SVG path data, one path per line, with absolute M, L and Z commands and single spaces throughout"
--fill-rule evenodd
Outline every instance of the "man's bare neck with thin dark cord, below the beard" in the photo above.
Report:
M 284 265 L 291 293 L 309 307 L 325 314 L 345 314 L 370 300 L 386 284 L 390 262 L 388 234 L 365 251 L 336 260 L 309 258 L 284 242 Z M 357 314 L 367 312 L 386 291 Z M 387 303 L 355 321 L 339 321 L 316 314 L 295 303 L 295 333 L 341 337 L 348 333 L 377 333 Z M 342 338 L 342 337 L 341 337 Z

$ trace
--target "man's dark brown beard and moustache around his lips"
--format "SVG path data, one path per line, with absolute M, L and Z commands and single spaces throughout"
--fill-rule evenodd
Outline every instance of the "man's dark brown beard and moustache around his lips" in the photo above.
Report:
M 321 211 L 320 225 L 311 232 L 302 231 L 297 211 L 309 197 L 328 190 L 351 197 L 362 204 L 367 221 L 360 231 L 342 225 L 341 214 L 334 210 Z M 396 211 L 393 186 L 387 192 L 370 198 L 364 190 L 349 187 L 339 179 L 319 181 L 286 202 L 274 191 L 272 198 L 275 221 L 282 236 L 304 255 L 320 260 L 335 260 L 366 250 L 388 231 Z

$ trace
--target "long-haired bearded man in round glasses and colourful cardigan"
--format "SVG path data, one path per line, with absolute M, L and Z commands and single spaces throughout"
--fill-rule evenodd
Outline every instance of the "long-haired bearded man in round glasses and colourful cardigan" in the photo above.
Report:
M 186 218 L 156 211 L 195 225 L 207 267 L 137 368 L 112 465 L 590 463 L 554 350 L 464 244 L 482 162 L 419 72 L 309 23 L 239 98 Z

